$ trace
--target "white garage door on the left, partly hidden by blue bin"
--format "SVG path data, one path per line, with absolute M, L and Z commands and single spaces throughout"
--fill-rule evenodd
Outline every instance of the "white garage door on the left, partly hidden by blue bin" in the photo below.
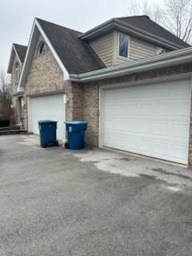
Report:
M 63 94 L 31 97 L 29 100 L 29 130 L 39 134 L 39 120 L 53 120 L 58 122 L 57 138 L 65 140 L 66 110 Z

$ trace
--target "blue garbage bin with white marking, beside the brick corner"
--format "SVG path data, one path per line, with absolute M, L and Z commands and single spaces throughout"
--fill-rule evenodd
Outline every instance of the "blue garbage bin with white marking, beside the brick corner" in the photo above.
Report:
M 82 120 L 76 120 L 68 121 L 65 123 L 68 138 L 68 146 L 70 150 L 83 149 L 87 122 Z

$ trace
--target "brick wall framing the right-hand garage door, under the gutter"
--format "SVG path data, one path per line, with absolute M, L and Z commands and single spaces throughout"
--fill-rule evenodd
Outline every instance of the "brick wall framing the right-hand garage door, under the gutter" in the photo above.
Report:
M 82 99 L 82 118 L 89 122 L 86 131 L 86 143 L 91 146 L 98 146 L 99 133 L 99 88 L 100 86 L 112 85 L 123 82 L 136 82 L 143 79 L 161 78 L 174 74 L 192 72 L 192 65 L 171 66 L 159 70 L 152 70 L 138 74 L 130 74 L 119 78 L 110 78 L 98 82 L 87 82 L 83 84 Z M 192 104 L 192 103 L 191 103 Z M 189 166 L 192 166 L 192 113 L 190 118 L 190 146 L 189 146 Z

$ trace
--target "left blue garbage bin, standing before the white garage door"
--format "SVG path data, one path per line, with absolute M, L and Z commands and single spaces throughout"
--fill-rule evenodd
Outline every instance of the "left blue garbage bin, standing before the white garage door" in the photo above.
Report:
M 58 146 L 57 141 L 57 122 L 42 120 L 38 122 L 40 134 L 40 144 L 42 147 Z

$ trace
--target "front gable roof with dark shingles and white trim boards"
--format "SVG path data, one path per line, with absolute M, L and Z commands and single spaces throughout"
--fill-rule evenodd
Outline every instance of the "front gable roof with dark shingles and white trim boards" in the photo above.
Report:
M 86 73 L 105 67 L 88 43 L 78 38 L 80 32 L 35 18 L 22 74 L 18 83 L 18 91 L 22 91 L 25 86 L 27 72 L 30 69 L 39 33 L 58 62 L 58 66 L 63 72 L 64 80 L 69 80 L 69 74 Z

